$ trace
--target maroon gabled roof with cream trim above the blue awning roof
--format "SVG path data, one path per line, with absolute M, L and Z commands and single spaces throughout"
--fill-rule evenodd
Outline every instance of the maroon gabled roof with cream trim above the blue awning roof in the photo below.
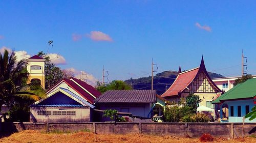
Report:
M 76 78 L 74 78 L 76 79 Z M 79 79 L 77 79 L 79 80 Z M 94 97 L 91 96 L 89 93 L 87 93 L 86 91 L 84 91 L 82 88 L 79 87 L 79 85 L 81 85 L 80 83 L 78 83 L 79 85 L 77 85 L 75 82 L 73 82 L 72 80 L 70 79 L 67 79 L 67 78 L 63 78 L 62 80 L 60 80 L 59 82 L 57 82 L 55 85 L 53 85 L 47 92 L 46 94 L 48 94 L 50 91 L 52 91 L 53 89 L 55 89 L 59 84 L 61 84 L 62 82 L 65 82 L 67 83 L 73 90 L 75 90 L 78 94 L 80 94 L 84 99 L 86 99 L 88 102 L 90 102 L 91 104 L 94 102 Z M 83 82 L 83 81 L 82 81 Z M 90 85 L 91 86 L 91 85 Z M 83 87 L 84 89 L 86 89 L 87 91 L 89 91 L 89 84 L 86 86 L 81 85 L 81 87 Z M 93 87 L 92 87 L 93 88 Z M 94 93 L 96 93 L 94 96 L 95 97 L 98 97 L 100 92 L 98 92 L 96 89 L 94 89 L 95 91 L 93 93 L 91 93 L 90 91 L 93 91 L 91 88 L 90 88 L 90 93 L 92 95 L 94 95 Z M 98 92 L 98 93 L 97 93 Z

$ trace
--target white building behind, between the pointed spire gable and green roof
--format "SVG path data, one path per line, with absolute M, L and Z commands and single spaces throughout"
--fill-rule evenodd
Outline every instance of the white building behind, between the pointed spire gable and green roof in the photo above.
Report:
M 256 78 L 256 75 L 252 75 L 253 78 Z M 221 77 L 221 78 L 213 78 L 212 81 L 217 85 L 219 89 L 224 92 L 232 89 L 234 80 L 241 78 L 241 76 L 233 76 L 233 77 Z

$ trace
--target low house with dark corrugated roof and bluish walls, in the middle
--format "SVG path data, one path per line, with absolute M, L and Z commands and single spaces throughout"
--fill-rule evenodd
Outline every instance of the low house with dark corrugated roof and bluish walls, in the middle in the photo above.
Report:
M 95 99 L 95 106 L 99 110 L 116 109 L 136 117 L 151 118 L 156 101 L 155 90 L 110 90 Z M 98 115 L 98 118 L 101 117 Z M 108 119 L 102 118 L 101 121 Z

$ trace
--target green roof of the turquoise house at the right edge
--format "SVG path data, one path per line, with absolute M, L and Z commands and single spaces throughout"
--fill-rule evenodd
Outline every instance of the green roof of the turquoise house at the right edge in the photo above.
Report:
M 221 95 L 212 104 L 221 103 L 225 100 L 253 98 L 256 95 L 256 78 L 251 78 L 244 83 L 237 84 L 235 87 Z

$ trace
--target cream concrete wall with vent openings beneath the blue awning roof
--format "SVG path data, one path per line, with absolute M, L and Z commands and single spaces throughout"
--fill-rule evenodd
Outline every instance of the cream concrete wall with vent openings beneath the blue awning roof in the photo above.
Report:
M 37 111 L 51 111 L 51 115 L 38 115 Z M 53 111 L 75 111 L 75 115 L 53 115 Z M 30 122 L 90 122 L 90 108 L 31 107 Z

